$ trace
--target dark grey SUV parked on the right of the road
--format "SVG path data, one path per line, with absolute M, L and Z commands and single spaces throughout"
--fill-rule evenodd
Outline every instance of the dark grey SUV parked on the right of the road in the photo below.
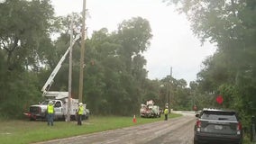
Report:
M 242 124 L 237 112 L 203 109 L 196 117 L 194 144 L 242 144 Z

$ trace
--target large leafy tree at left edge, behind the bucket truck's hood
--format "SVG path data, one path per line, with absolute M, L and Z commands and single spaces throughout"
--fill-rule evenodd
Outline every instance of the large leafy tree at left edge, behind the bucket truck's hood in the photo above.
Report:
M 0 19 L 0 112 L 21 116 L 41 95 L 37 72 L 42 49 L 52 46 L 53 9 L 49 0 L 6 0 L 0 4 Z

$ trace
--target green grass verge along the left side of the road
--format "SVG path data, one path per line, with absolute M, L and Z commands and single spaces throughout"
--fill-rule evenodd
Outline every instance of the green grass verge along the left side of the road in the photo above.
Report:
M 172 113 L 169 118 L 178 116 L 181 115 Z M 53 127 L 47 126 L 46 121 L 0 121 L 0 143 L 27 144 L 163 121 L 163 119 L 163 116 L 156 119 L 136 118 L 137 122 L 133 123 L 133 117 L 91 116 L 89 120 L 83 121 L 82 126 L 78 126 L 76 121 L 54 121 Z

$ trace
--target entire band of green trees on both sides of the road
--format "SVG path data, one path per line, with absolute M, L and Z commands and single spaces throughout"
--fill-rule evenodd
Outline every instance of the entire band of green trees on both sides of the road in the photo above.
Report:
M 95 114 L 131 115 L 154 100 L 177 110 L 235 109 L 249 124 L 256 109 L 256 3 L 253 0 L 165 0 L 187 14 L 192 31 L 217 50 L 202 62 L 197 80 L 147 78 L 143 52 L 150 48 L 150 23 L 133 17 L 116 31 L 102 28 L 86 40 L 83 101 Z M 74 15 L 75 27 L 81 15 Z M 54 16 L 50 0 L 6 0 L 0 4 L 0 117 L 22 117 L 42 100 L 41 86 L 69 47 L 71 15 Z M 75 32 L 75 36 L 78 32 Z M 52 39 L 54 36 L 55 39 Z M 74 36 L 74 37 L 75 37 Z M 73 48 L 72 97 L 78 98 L 80 40 Z M 69 60 L 50 90 L 68 91 Z M 224 103 L 215 102 L 217 95 Z

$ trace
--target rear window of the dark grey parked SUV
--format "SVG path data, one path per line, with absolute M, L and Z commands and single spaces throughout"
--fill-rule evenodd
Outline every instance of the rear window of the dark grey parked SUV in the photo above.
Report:
M 203 111 L 201 119 L 220 120 L 220 121 L 237 121 L 235 112 L 222 111 Z

